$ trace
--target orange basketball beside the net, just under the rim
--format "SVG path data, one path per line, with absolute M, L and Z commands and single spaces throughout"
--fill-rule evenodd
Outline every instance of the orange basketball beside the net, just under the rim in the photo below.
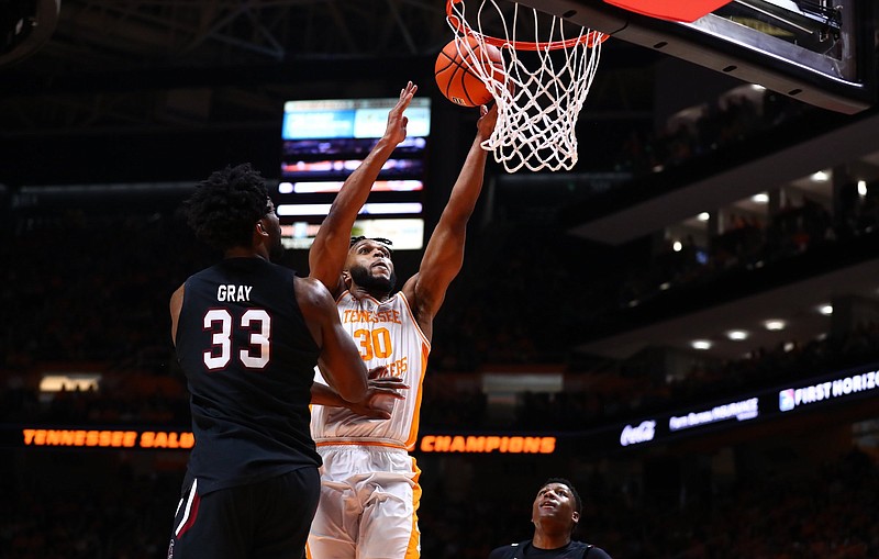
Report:
M 471 36 L 467 42 L 472 49 L 470 59 L 474 66 L 482 64 L 489 75 L 494 75 L 499 81 L 503 80 L 503 59 L 498 47 L 489 44 L 481 45 Z M 464 58 L 467 52 L 458 53 L 455 41 L 449 42 L 436 57 L 434 75 L 439 91 L 449 101 L 461 107 L 479 107 L 491 102 L 492 96 L 479 75 L 470 69 Z

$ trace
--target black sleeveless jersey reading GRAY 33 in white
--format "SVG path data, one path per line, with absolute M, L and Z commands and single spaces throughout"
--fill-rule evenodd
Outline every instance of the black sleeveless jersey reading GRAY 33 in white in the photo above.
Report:
M 176 347 L 196 436 L 187 478 L 200 493 L 320 466 L 308 407 L 319 348 L 292 270 L 230 258 L 191 276 Z

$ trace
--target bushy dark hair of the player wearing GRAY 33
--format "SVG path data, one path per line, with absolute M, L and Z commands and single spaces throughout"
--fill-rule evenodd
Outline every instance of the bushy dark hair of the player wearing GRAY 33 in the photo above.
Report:
M 199 239 L 226 250 L 253 244 L 254 224 L 268 213 L 268 201 L 265 179 L 244 163 L 199 182 L 183 209 Z

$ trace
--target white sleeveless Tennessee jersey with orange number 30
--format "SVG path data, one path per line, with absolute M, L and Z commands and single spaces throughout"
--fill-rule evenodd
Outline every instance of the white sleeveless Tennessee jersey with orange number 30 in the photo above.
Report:
M 390 420 L 367 420 L 345 407 L 313 405 L 311 435 L 318 446 L 363 444 L 412 450 L 419 429 L 421 384 L 431 344 L 412 315 L 402 292 L 379 302 L 356 299 L 345 291 L 336 301 L 342 326 L 360 349 L 367 369 L 385 366 L 390 377 L 401 377 L 409 389 L 404 400 L 387 398 Z M 315 381 L 324 382 L 315 368 Z

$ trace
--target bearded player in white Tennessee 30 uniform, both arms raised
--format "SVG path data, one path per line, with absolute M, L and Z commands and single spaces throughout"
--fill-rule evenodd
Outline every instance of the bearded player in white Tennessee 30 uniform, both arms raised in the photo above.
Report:
M 476 138 L 419 271 L 396 291 L 390 242 L 351 238 L 351 231 L 381 167 L 405 139 L 403 112 L 416 90 L 409 82 L 400 92 L 385 135 L 345 181 L 309 253 L 309 276 L 336 298 L 343 327 L 367 368 L 385 366 L 388 376 L 401 377 L 409 387 L 405 399 L 388 398 L 386 421 L 343 407 L 313 406 L 311 431 L 323 467 L 321 500 L 309 535 L 311 559 L 420 557 L 420 470 L 409 450 L 418 436 L 433 318 L 461 268 L 467 221 L 486 167 L 487 153 L 479 144 L 494 128 L 497 108 L 480 108 Z

